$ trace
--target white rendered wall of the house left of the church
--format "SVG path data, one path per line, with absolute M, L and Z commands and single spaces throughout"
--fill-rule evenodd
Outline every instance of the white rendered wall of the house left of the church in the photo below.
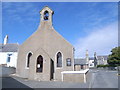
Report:
M 10 56 L 10 62 L 7 62 L 8 54 L 12 54 Z M 17 64 L 17 52 L 0 52 L 0 64 L 7 64 L 8 67 L 15 67 Z

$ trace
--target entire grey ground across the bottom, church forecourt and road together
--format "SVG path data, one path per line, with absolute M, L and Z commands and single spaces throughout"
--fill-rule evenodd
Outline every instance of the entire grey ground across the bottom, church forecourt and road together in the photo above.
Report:
M 90 69 L 86 83 L 34 81 L 14 75 L 1 77 L 2 88 L 118 88 L 117 71 Z

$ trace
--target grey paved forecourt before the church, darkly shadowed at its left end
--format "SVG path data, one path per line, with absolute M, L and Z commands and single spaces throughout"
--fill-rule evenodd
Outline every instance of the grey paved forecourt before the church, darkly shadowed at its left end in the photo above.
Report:
M 12 81 L 12 82 L 11 82 Z M 2 78 L 3 88 L 86 88 L 86 83 L 34 81 L 19 77 Z

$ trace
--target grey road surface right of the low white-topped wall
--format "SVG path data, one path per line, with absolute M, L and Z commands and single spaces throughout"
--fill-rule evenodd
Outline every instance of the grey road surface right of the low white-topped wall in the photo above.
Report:
M 92 80 L 89 88 L 118 88 L 117 71 L 90 70 Z

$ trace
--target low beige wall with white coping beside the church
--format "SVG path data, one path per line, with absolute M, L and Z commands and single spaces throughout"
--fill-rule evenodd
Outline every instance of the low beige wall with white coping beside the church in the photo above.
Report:
M 63 71 L 61 72 L 62 81 L 86 83 L 86 76 L 88 71 L 89 69 L 82 71 Z

